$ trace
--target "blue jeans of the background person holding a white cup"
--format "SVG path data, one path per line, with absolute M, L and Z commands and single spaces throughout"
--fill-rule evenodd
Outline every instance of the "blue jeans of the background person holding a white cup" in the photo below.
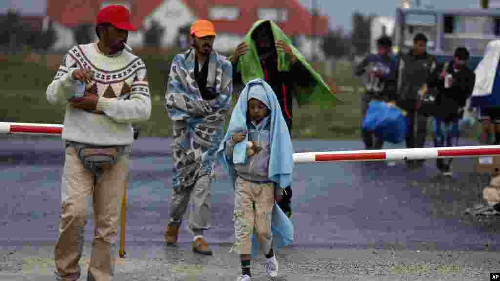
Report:
M 457 146 L 460 138 L 458 120 L 445 122 L 442 118 L 434 117 L 434 147 Z M 437 158 L 436 165 L 440 170 L 449 170 L 453 158 Z

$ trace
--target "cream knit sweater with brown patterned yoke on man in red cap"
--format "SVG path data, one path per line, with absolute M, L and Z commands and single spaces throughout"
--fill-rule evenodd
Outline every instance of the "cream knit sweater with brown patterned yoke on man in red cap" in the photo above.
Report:
M 77 109 L 68 102 L 77 85 L 72 72 L 82 68 L 94 71 L 93 82 L 85 91 L 99 96 L 95 111 Z M 151 114 L 149 82 L 142 60 L 126 50 L 105 55 L 96 43 L 71 48 L 46 93 L 50 104 L 66 106 L 62 138 L 76 142 L 131 144 L 131 123 L 147 120 Z

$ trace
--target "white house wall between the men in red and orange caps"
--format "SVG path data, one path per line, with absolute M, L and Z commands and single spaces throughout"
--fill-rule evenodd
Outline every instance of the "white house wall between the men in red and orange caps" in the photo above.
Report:
M 161 39 L 161 46 L 171 46 L 175 44 L 178 28 L 194 22 L 196 17 L 183 1 L 164 0 L 144 19 L 142 23 L 144 30 L 149 29 L 153 19 L 165 29 Z

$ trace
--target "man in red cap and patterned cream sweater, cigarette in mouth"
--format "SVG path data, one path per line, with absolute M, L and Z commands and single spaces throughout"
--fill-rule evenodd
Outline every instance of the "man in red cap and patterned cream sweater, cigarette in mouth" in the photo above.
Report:
M 151 114 L 146 67 L 124 49 L 128 31 L 135 30 L 128 10 L 118 5 L 101 9 L 95 30 L 98 42 L 71 48 L 46 90 L 50 104 L 66 108 L 62 212 L 54 249 L 57 280 L 80 276 L 89 196 L 95 226 L 87 280 L 106 281 L 114 275 L 132 123 Z

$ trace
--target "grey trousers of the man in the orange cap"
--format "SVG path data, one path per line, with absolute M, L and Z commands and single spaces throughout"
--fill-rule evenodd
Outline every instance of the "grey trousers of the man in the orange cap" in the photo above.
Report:
M 180 226 L 182 215 L 191 202 L 189 209 L 189 229 L 194 235 L 202 235 L 211 223 L 211 177 L 202 175 L 193 186 L 172 189 L 170 221 L 168 225 Z

